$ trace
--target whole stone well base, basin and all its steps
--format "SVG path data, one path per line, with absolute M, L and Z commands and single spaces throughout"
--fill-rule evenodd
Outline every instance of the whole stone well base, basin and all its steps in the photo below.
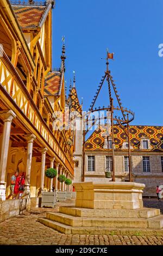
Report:
M 38 221 L 65 234 L 163 234 L 160 210 L 143 208 L 144 184 L 92 181 L 74 187 L 75 206 L 60 206 Z

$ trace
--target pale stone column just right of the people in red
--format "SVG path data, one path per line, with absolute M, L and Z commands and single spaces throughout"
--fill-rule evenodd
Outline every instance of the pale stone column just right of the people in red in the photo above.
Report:
M 36 138 L 34 134 L 24 135 L 27 140 L 27 164 L 26 164 L 26 183 L 24 193 L 30 193 L 30 170 L 32 163 L 32 150 L 33 150 L 33 141 Z

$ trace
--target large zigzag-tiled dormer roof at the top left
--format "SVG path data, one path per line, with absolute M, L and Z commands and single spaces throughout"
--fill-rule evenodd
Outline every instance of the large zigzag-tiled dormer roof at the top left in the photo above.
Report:
M 37 28 L 45 12 L 45 6 L 12 5 L 18 23 L 22 29 Z

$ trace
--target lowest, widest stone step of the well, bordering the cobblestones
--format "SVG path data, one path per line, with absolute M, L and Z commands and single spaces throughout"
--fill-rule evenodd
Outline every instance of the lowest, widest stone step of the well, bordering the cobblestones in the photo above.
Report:
M 163 228 L 108 228 L 108 227 L 71 227 L 63 223 L 38 218 L 38 221 L 49 228 L 53 228 L 64 234 L 84 235 L 149 235 L 162 236 Z

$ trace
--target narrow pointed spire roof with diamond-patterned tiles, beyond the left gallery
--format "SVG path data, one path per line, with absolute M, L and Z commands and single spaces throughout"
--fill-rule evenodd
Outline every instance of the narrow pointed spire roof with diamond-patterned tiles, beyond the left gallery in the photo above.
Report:
M 71 102 L 71 112 L 77 111 L 82 113 L 82 107 L 80 106 L 76 87 L 72 87 L 70 96 L 68 97 L 68 103 Z

